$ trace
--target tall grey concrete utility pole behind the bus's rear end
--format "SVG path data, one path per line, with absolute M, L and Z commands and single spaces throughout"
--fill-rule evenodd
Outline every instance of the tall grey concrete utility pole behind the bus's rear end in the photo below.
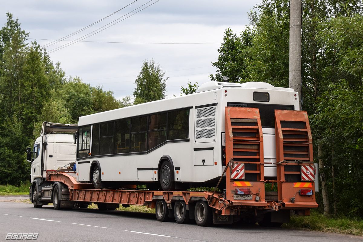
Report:
M 289 86 L 299 94 L 301 108 L 301 1 L 290 0 Z

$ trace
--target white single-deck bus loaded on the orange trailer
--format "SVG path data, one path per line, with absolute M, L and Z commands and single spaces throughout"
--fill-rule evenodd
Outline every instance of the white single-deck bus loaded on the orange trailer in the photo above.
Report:
M 195 94 L 80 117 L 77 181 L 97 189 L 215 186 L 225 167 L 225 107 L 259 109 L 264 177 L 276 180 L 274 110 L 299 110 L 297 92 L 262 82 L 208 82 Z M 246 173 L 245 180 L 257 175 Z

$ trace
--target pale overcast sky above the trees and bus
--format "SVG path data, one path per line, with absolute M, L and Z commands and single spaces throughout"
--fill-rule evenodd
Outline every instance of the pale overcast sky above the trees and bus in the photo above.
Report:
M 146 7 L 113 26 L 107 25 L 110 27 L 99 33 L 99 30 L 107 26 L 93 32 L 94 35 L 83 40 L 98 42 L 76 42 L 57 50 L 56 48 L 71 43 L 60 41 L 46 49 L 54 63 L 61 63 L 67 76 L 78 76 L 91 86 L 100 84 L 105 90 L 113 90 L 118 99 L 132 95 L 143 61 L 154 59 L 166 72 L 165 77 L 170 77 L 166 94 L 172 97 L 173 94 L 180 95 L 180 86 L 185 86 L 188 80 L 198 82 L 199 85 L 210 80 L 208 76 L 216 71 L 212 62 L 217 61 L 217 49 L 223 41 L 225 30 L 232 28 L 235 33 L 241 32 L 249 24 L 247 12 L 261 2 L 137 0 L 132 3 L 133 1 L 0 0 L 0 26 L 6 23 L 6 13 L 9 11 L 21 22 L 21 29 L 29 32 L 28 41 L 36 39 L 43 46 L 51 40 L 77 32 L 129 4 L 66 40 L 81 40 L 82 36 L 112 21 L 115 24 Z M 143 4 L 145 5 L 140 7 Z M 135 10 L 136 8 L 138 9 Z

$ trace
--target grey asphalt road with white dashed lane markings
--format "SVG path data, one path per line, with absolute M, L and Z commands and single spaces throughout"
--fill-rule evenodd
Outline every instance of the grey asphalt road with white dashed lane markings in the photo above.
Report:
M 8 233 L 38 233 L 37 241 L 148 241 L 148 242 L 355 242 L 363 237 L 258 225 L 199 227 L 158 222 L 155 214 L 73 209 L 56 211 L 44 205 L 0 202 L 0 241 Z

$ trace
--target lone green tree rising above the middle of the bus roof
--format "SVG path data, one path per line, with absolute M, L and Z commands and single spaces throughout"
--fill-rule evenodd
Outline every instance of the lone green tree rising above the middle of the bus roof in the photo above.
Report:
M 169 79 L 169 77 L 164 78 L 164 74 L 159 63 L 155 64 L 154 60 L 149 62 L 145 60 L 135 80 L 134 104 L 164 99 L 166 81 Z

